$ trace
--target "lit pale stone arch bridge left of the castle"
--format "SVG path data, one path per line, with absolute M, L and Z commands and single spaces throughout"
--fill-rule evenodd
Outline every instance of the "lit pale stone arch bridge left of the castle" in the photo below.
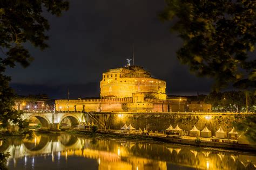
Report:
M 25 112 L 23 119 L 37 118 L 42 124 L 42 129 L 59 129 L 59 124 L 64 118 L 68 118 L 71 127 L 76 128 L 78 124 L 83 122 L 93 122 L 96 124 L 95 118 L 90 113 L 83 112 L 56 112 L 56 111 L 31 111 Z M 97 123 L 98 124 L 98 123 Z

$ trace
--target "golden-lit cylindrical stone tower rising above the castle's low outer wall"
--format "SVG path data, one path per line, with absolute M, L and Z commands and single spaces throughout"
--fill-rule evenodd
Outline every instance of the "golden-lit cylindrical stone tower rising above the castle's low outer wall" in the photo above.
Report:
M 166 99 L 166 82 L 154 79 L 140 66 L 110 69 L 100 81 L 100 97 L 125 98 L 143 93 L 146 98 Z

